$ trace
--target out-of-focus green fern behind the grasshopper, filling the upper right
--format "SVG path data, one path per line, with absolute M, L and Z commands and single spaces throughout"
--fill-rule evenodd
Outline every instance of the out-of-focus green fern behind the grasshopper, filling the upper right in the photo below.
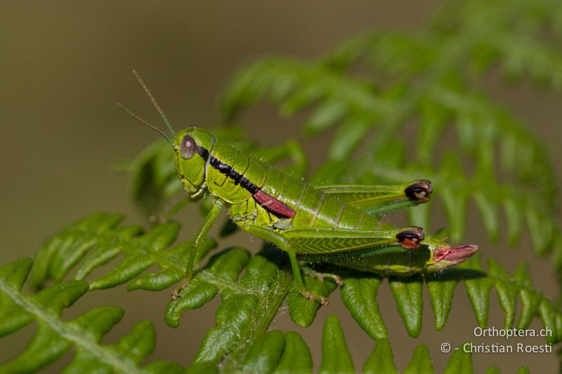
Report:
M 507 79 L 528 76 L 561 89 L 560 8 L 555 1 L 455 1 L 423 32 L 362 34 L 318 60 L 259 60 L 230 82 L 223 112 L 233 120 L 263 100 L 285 116 L 307 109 L 307 134 L 336 128 L 315 182 L 428 178 L 453 241 L 462 239 L 473 199 L 492 240 L 503 208 L 509 243 L 518 243 L 526 221 L 536 251 L 556 248 L 560 267 L 548 153 L 530 126 L 475 88 L 499 68 Z M 404 135 L 408 126 L 413 140 Z M 455 140 L 445 137 L 450 127 Z M 349 159 L 361 160 L 359 167 L 346 167 Z M 412 222 L 429 227 L 427 209 L 412 210 Z

